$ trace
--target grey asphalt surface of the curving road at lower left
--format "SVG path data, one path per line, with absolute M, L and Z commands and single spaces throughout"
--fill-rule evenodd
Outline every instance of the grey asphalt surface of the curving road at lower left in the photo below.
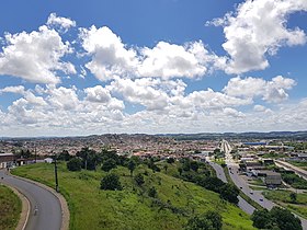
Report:
M 31 204 L 31 212 L 25 230 L 59 230 L 61 226 L 61 208 L 58 198 L 46 191 L 30 182 L 7 175 L 5 171 L 0 170 L 2 183 L 15 187 L 26 196 Z M 35 206 L 37 214 L 34 215 Z

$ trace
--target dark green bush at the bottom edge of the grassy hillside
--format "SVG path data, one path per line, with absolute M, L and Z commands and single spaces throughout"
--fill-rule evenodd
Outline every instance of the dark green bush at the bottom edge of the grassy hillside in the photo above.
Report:
M 217 211 L 207 211 L 187 220 L 186 230 L 220 230 L 221 216 Z

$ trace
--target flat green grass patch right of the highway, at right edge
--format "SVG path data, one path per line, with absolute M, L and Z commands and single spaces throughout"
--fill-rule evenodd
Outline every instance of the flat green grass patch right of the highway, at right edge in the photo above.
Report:
M 292 203 L 289 198 L 289 191 L 264 191 L 263 195 L 278 205 L 288 208 L 289 210 L 307 218 L 307 194 L 297 194 L 296 203 Z

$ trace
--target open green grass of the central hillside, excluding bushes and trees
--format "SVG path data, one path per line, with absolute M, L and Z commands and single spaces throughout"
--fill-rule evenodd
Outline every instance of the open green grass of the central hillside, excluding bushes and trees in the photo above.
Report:
M 69 172 L 59 164 L 59 188 L 65 195 L 71 215 L 70 229 L 182 229 L 193 214 L 217 210 L 223 216 L 225 230 L 254 229 L 249 216 L 235 205 L 221 200 L 218 194 L 168 174 L 152 173 L 147 166 L 138 166 L 134 174 L 147 172 L 145 184 L 139 187 L 126 168 L 113 170 L 121 176 L 123 191 L 101 191 L 104 172 Z M 177 173 L 175 166 L 168 172 Z M 52 186 L 52 164 L 37 163 L 18 168 L 14 174 L 39 181 Z M 158 199 L 148 197 L 155 186 Z M 175 214 L 175 208 L 181 214 Z

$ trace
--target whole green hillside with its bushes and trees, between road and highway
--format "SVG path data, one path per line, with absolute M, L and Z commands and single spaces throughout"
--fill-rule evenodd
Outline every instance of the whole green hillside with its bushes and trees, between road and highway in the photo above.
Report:
M 106 150 L 94 156 L 83 149 L 77 156 L 77 166 L 58 163 L 59 189 L 71 214 L 70 229 L 196 229 L 198 225 L 220 229 L 213 219 L 220 219 L 225 230 L 254 229 L 250 217 L 227 202 L 232 197 L 231 186 L 221 182 L 214 188 L 217 192 L 200 186 L 205 180 L 219 183 L 204 163 L 127 159 Z M 20 166 L 13 173 L 54 185 L 53 164 Z M 212 219 L 204 221 L 207 216 Z

